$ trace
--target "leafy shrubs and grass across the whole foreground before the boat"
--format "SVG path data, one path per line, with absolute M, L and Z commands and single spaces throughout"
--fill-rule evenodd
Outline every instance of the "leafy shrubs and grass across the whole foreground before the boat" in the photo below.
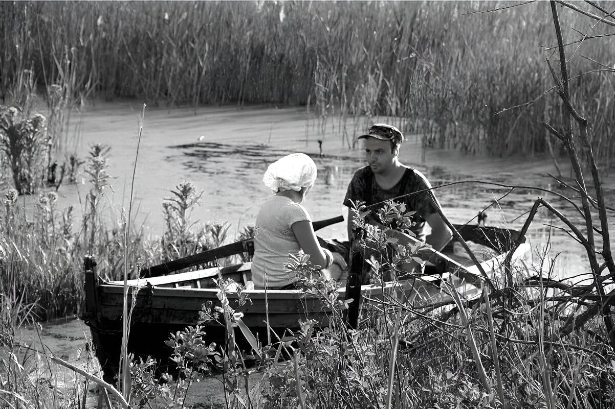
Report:
M 380 246 L 376 238 L 372 244 Z M 392 262 L 403 263 L 412 256 L 413 252 L 405 252 Z M 558 336 L 561 322 L 578 313 L 574 303 L 579 298 L 569 292 L 556 294 L 541 284 L 534 290 L 525 287 L 525 278 L 541 274 L 540 265 L 516 265 L 512 280 L 503 271 L 493 276 L 498 292 L 506 291 L 514 302 L 493 303 L 491 315 L 486 314 L 485 305 L 446 287 L 443 292 L 450 297 L 439 303 L 420 297 L 408 302 L 393 293 L 376 305 L 366 305 L 359 328 L 351 332 L 344 325 L 346 304 L 336 298 L 335 284 L 323 279 L 306 257 L 294 257 L 289 268 L 301 274 L 304 290 L 319 295 L 332 311 L 328 329 L 314 321 L 303 322 L 281 342 L 274 339 L 275 345 L 260 346 L 236 319 L 240 314 L 232 310 L 234 304 L 228 302 L 226 292 L 237 293 L 234 297 L 244 303 L 249 303 L 248 297 L 234 283 L 219 281 L 223 307 L 215 311 L 228 325 L 228 345 L 234 346 L 242 337 L 231 325 L 235 322 L 254 349 L 250 359 L 260 365 L 261 380 L 255 383 L 248 376 L 255 368 L 245 366 L 240 348 L 221 351 L 207 345 L 203 328 L 194 327 L 173 334 L 168 342 L 182 376 L 156 373 L 151 359 L 132 361 L 130 405 L 160 407 L 166 402 L 180 407 L 191 384 L 209 373 L 212 365 L 224 370 L 231 408 L 609 407 L 615 400 L 611 388 L 615 355 L 604 341 L 603 325 L 595 319 Z M 2 297 L 2 302 L 12 306 L 2 308 L 0 316 L 11 327 L 32 319 L 30 306 L 18 295 Z M 211 314 L 214 310 L 209 308 Z M 12 339 L 12 334 L 4 334 L 4 339 Z M 280 356 L 288 361 L 280 362 Z M 13 357 L 18 353 L 10 359 L 0 357 L 0 365 L 11 376 L 4 390 L 17 396 L 0 395 L 2 401 L 7 398 L 10 405 L 17 405 L 17 400 L 38 397 L 49 408 L 82 407 L 79 402 L 85 392 L 79 386 L 63 394 L 54 387 L 50 393 L 32 381 L 41 376 L 43 364 L 35 365 L 39 372 L 26 370 Z M 495 365 L 501 376 L 496 376 Z M 58 368 L 52 370 L 58 373 Z M 33 378 L 34 373 L 38 375 Z M 86 379 L 100 381 L 91 375 Z M 503 395 L 496 394 L 496 384 Z

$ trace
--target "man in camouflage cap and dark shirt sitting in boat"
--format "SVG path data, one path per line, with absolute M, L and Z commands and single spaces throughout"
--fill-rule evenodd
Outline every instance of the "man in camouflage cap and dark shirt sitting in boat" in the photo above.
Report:
M 431 184 L 418 170 L 399 162 L 399 149 L 403 142 L 403 134 L 395 127 L 385 123 L 372 125 L 368 133 L 359 136 L 365 141 L 365 157 L 367 166 L 360 168 L 352 177 L 344 205 L 348 206 L 348 238 L 352 241 L 352 211 L 351 200 L 354 203 L 364 201 L 370 204 L 395 199 L 406 204 L 406 211 L 415 211 L 411 230 L 418 240 L 424 241 L 442 250 L 453 236 L 440 214 L 435 210 L 427 189 Z M 421 192 L 422 191 L 422 192 Z M 408 194 L 411 193 L 411 194 Z M 375 217 L 379 206 L 371 208 Z M 368 216 L 369 217 L 369 216 Z M 371 220 L 378 222 L 377 219 Z M 431 234 L 426 236 L 426 222 L 431 227 Z

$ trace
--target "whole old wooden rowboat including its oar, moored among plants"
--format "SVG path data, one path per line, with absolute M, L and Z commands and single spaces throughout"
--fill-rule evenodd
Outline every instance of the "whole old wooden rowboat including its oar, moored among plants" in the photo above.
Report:
M 341 219 L 341 218 L 339 218 Z M 339 220 L 338 218 L 332 220 Z M 343 220 L 343 219 L 342 219 Z M 325 225 L 330 224 L 325 220 Z M 315 222 L 315 229 L 320 226 Z M 519 257 L 528 249 L 525 237 L 515 230 L 493 227 L 456 226 L 466 241 L 477 243 L 491 249 L 496 255 L 482 262 L 489 272 L 502 263 L 510 253 Z M 420 295 L 421 300 L 437 301 L 443 297 L 440 283 L 446 280 L 453 283 L 467 295 L 478 289 L 472 286 L 480 281 L 477 266 L 463 265 L 450 243 L 442 252 L 434 252 L 431 262 L 426 265 L 425 275 L 420 278 L 387 283 L 385 286 L 362 286 L 362 300 L 379 302 L 387 295 L 400 290 L 413 300 Z M 175 273 L 207 261 L 220 259 L 232 254 L 253 253 L 252 240 L 239 241 L 180 260 L 148 268 L 142 272 L 145 278 L 128 281 L 129 300 L 136 292 L 130 320 L 129 352 L 138 356 L 165 356 L 169 349 L 164 341 L 169 333 L 197 324 L 199 311 L 207 302 L 220 305 L 218 288 L 213 279 L 222 277 L 245 285 L 251 279 L 251 263 L 239 263 L 231 267 L 204 268 L 196 271 Z M 514 253 L 514 254 L 512 254 Z M 168 275 L 161 275 L 167 273 Z M 123 310 L 123 281 L 104 281 L 97 275 L 95 260 L 85 260 L 85 312 L 82 318 L 89 325 L 96 354 L 105 372 L 113 373 L 119 361 L 121 345 L 121 317 Z M 300 290 L 244 290 L 251 302 L 245 303 L 239 311 L 243 321 L 255 333 L 266 333 L 269 326 L 282 335 L 285 329 L 297 329 L 300 320 L 314 319 L 323 327 L 328 325 L 328 312 L 319 300 Z M 231 303 L 234 297 L 229 294 Z M 338 289 L 338 297 L 346 298 L 346 289 Z M 208 325 L 207 338 L 224 342 L 224 327 Z M 241 337 L 241 335 L 239 335 Z M 261 338 L 263 339 L 263 338 Z

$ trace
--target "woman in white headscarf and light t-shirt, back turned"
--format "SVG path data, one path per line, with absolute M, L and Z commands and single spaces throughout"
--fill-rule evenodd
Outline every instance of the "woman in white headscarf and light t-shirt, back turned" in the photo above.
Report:
M 293 289 L 298 277 L 284 271 L 288 254 L 300 249 L 310 262 L 323 269 L 346 262 L 339 254 L 320 247 L 312 219 L 301 202 L 316 180 L 316 164 L 305 154 L 287 155 L 269 165 L 263 182 L 274 195 L 256 216 L 252 281 L 256 289 Z M 339 270 L 336 269 L 336 270 Z M 337 278 L 337 277 L 328 277 Z

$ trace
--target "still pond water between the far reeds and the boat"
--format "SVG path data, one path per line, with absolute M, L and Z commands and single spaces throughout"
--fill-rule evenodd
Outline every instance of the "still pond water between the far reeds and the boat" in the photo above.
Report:
M 122 208 L 127 209 L 129 204 L 142 107 L 135 101 L 97 103 L 74 113 L 71 119 L 66 146 L 79 157 L 85 158 L 92 144 L 111 146 L 112 178 L 105 200 L 106 214 L 116 222 Z M 347 124 L 348 138 L 353 138 L 352 133 L 360 134 L 367 123 L 365 119 L 357 123 L 351 120 Z M 192 220 L 228 220 L 231 240 L 244 225 L 253 224 L 260 203 L 271 194 L 261 181 L 269 163 L 292 152 L 310 155 L 319 169 L 314 188 L 304 203 L 312 219 L 345 216 L 347 209 L 341 201 L 347 184 L 354 171 L 365 164 L 361 145 L 357 144 L 355 149 L 347 147 L 338 119 L 329 120 L 325 127 L 321 125 L 304 107 L 148 107 L 134 178 L 134 225 L 143 226 L 152 237 L 162 235 L 162 199 L 169 196 L 175 185 L 187 180 L 205 192 Z M 423 172 L 434 187 L 450 182 L 484 181 L 557 189 L 547 175 L 555 173 L 549 158 L 490 158 L 425 149 L 418 135 L 407 133 L 400 160 Z M 569 176 L 568 168 L 565 169 L 565 176 Z M 60 187 L 60 207 L 73 204 L 77 211 L 82 208 L 89 185 L 84 173 L 78 179 L 77 185 Z M 605 187 L 608 203 L 613 203 L 613 181 L 607 181 Z M 502 198 L 508 190 L 472 182 L 442 187 L 436 195 L 451 222 L 475 224 L 476 219 L 472 219 L 477 212 L 490 206 L 488 225 L 517 229 L 522 227 L 537 197 L 555 200 L 554 195 L 526 188 L 515 189 Z M 570 208 L 561 202 L 556 207 L 580 225 Z M 539 211 L 529 233 L 532 246 L 543 251 L 550 243 L 550 257 L 561 253 L 555 263 L 561 275 L 587 271 L 583 249 L 560 227 L 563 224 L 549 212 Z M 319 234 L 345 238 L 346 225 L 333 225 Z

